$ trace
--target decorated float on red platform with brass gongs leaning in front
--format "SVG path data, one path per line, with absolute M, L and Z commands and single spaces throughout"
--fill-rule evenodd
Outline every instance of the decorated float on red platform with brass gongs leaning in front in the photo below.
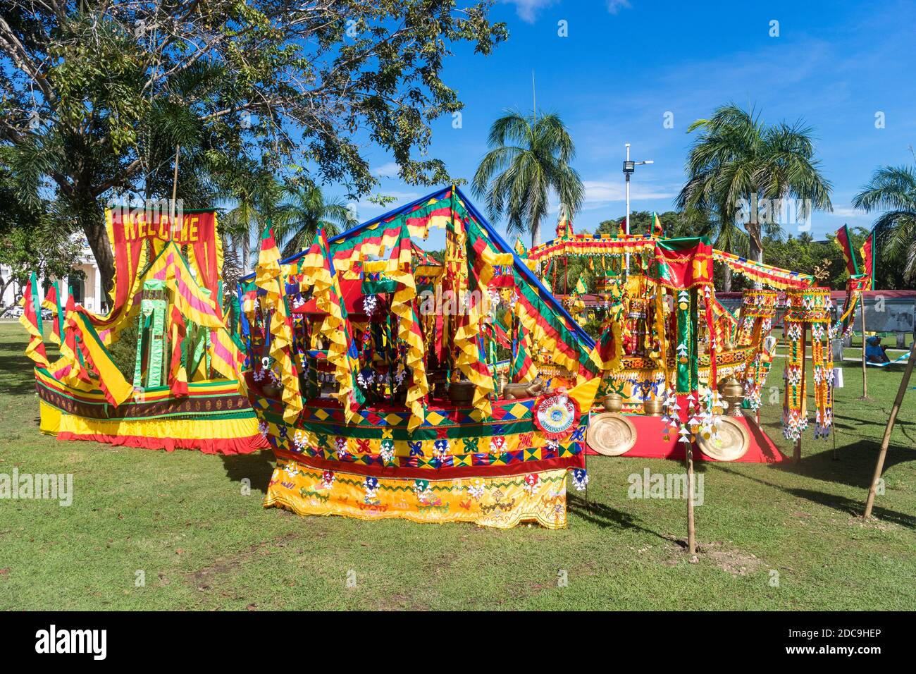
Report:
M 580 280 L 573 292 L 563 287 L 559 295 L 581 322 L 601 323 L 598 399 L 605 411 L 593 415 L 589 451 L 683 459 L 695 444 L 697 459 L 783 460 L 758 419 L 778 315 L 788 354 L 783 433 L 800 442 L 810 387 L 814 436 L 827 436 L 833 424 L 830 343 L 850 327 L 857 282 L 847 288 L 844 315 L 834 324 L 830 291 L 816 287 L 813 276 L 713 249 L 706 238 L 664 238 L 657 216 L 652 229 L 645 235 L 574 234 L 561 220 L 556 238 L 524 251 L 555 291 L 561 290 L 556 274 L 565 284 L 570 259 L 583 257 L 594 271 L 597 293 L 586 293 Z M 737 315 L 716 299 L 716 264 L 758 285 L 744 291 Z M 805 377 L 806 353 L 812 381 Z

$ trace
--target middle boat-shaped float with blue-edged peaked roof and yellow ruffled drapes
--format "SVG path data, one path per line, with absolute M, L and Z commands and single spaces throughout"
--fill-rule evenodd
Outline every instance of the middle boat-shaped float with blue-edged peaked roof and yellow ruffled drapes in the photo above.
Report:
M 413 238 L 445 229 L 442 260 Z M 566 525 L 601 382 L 594 341 L 449 187 L 239 285 L 247 390 L 298 514 Z M 563 376 L 550 385 L 532 359 Z

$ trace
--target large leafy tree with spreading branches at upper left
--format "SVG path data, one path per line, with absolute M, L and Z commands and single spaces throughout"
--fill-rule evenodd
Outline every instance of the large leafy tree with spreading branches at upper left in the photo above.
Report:
M 52 189 L 110 286 L 102 204 L 127 195 L 193 205 L 226 176 L 289 166 L 354 194 L 376 179 L 365 140 L 400 178 L 447 182 L 426 155 L 430 122 L 462 104 L 442 81 L 456 43 L 507 37 L 491 0 L 6 0 L 0 15 L 0 143 L 16 189 Z M 178 148 L 176 152 L 176 148 Z

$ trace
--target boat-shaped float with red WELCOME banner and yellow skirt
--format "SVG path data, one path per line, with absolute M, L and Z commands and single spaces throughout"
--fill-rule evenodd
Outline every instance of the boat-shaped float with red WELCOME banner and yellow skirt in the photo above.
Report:
M 266 447 L 239 387 L 238 337 L 226 328 L 215 212 L 105 215 L 114 249 L 111 311 L 94 314 L 72 295 L 61 306 L 57 282 L 42 301 L 34 274 L 23 297 L 41 430 L 60 440 L 208 454 Z M 47 355 L 42 308 L 57 359 Z M 122 337 L 135 354 L 126 374 L 111 350 Z

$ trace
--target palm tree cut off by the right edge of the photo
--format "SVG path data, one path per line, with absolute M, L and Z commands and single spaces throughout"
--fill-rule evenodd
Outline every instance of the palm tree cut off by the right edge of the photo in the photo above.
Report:
M 916 279 L 916 169 L 882 166 L 871 176 L 853 205 L 868 213 L 885 213 L 875 221 L 877 237 L 889 260 L 900 262 L 903 278 Z

